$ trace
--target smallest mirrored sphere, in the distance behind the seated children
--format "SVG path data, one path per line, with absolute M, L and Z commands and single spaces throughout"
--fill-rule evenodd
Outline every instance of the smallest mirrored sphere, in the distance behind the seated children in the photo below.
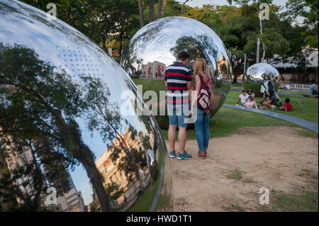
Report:
M 272 65 L 267 63 L 253 64 L 248 67 L 243 77 L 243 84 L 245 89 L 253 89 L 254 94 L 262 96 L 261 93 L 262 84 L 267 81 L 272 81 L 274 89 L 277 90 L 282 81 L 281 74 Z M 264 86 L 268 90 L 268 85 Z

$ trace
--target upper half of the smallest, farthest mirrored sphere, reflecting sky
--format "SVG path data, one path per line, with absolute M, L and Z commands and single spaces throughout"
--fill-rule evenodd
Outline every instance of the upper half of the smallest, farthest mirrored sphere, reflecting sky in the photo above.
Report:
M 248 67 L 244 79 L 247 81 L 273 81 L 278 83 L 281 81 L 281 74 L 270 64 L 258 63 Z

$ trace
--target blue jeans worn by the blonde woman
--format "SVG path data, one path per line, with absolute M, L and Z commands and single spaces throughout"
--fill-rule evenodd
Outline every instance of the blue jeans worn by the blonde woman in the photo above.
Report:
M 203 151 L 204 148 L 208 148 L 209 142 L 209 116 L 201 109 L 197 108 L 197 120 L 195 122 L 196 139 L 198 149 Z

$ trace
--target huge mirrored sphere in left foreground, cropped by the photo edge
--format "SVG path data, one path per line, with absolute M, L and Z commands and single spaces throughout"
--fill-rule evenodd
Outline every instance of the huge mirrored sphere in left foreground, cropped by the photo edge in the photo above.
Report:
M 0 1 L 0 24 L 0 62 L 7 62 L 0 69 L 1 113 L 11 109 L 9 98 L 18 98 L 13 94 L 29 90 L 26 105 L 17 108 L 28 114 L 13 119 L 1 115 L 8 120 L 0 120 L 0 193 L 13 197 L 12 203 L 0 197 L 1 210 L 22 205 L 23 210 L 171 210 L 162 132 L 152 114 L 136 113 L 135 102 L 142 98 L 125 70 L 78 30 L 20 1 Z M 19 89 L 19 84 L 26 87 Z M 63 96 L 67 90 L 60 87 L 65 86 L 75 87 L 79 96 Z M 30 89 L 40 96 L 31 98 L 35 94 Z M 132 95 L 127 98 L 123 92 Z M 77 100 L 83 105 L 77 106 Z M 33 122 L 33 112 L 44 112 L 36 121 L 39 131 L 9 130 L 26 123 L 24 118 Z M 23 146 L 21 132 L 30 146 Z M 29 165 L 39 174 L 24 171 Z M 39 203 L 33 203 L 35 197 Z

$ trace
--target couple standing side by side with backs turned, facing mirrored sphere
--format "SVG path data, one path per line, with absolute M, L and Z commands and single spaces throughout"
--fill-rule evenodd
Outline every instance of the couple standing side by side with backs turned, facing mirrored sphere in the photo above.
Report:
M 186 66 L 189 61 L 189 53 L 179 52 L 177 62 L 169 65 L 165 71 L 165 85 L 167 86 L 167 111 L 169 114 L 169 157 L 184 160 L 191 158 L 185 150 L 186 127 L 189 118 L 185 111 L 189 111 L 189 89 L 192 89 L 194 96 L 191 98 L 191 115 L 195 121 L 196 140 L 198 143 L 198 157 L 206 159 L 209 142 L 209 118 L 211 115 L 211 90 L 212 81 L 206 70 L 206 61 L 202 58 L 194 62 L 194 79 L 191 83 L 191 68 Z M 208 93 L 206 99 L 202 93 Z M 207 105 L 198 103 L 198 100 L 206 100 Z M 201 101 L 203 102 L 203 101 Z M 209 102 L 209 103 L 208 103 Z M 204 106 L 204 107 L 203 107 Z M 199 107 L 199 108 L 198 108 Z M 177 126 L 179 127 L 179 149 L 175 150 L 175 138 Z

